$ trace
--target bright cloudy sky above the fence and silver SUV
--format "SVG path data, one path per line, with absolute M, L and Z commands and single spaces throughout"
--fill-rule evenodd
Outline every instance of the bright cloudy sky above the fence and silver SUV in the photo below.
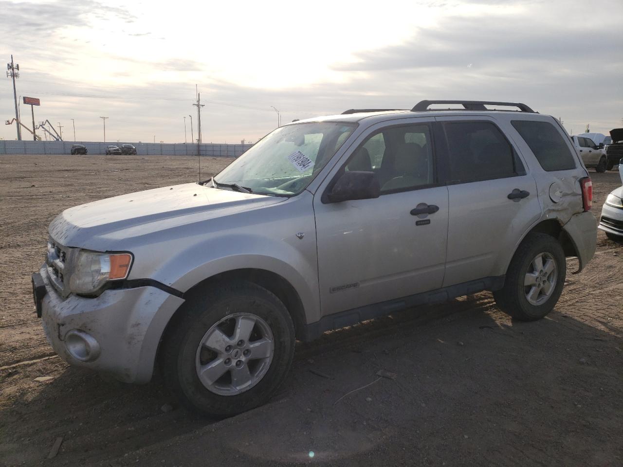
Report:
M 35 120 L 66 141 L 74 124 L 102 141 L 100 116 L 107 141 L 191 141 L 196 85 L 204 142 L 257 141 L 274 108 L 287 123 L 422 99 L 519 101 L 607 134 L 623 126 L 622 24 L 620 0 L 0 0 L 0 60 L 14 56 L 18 97 L 40 98 Z

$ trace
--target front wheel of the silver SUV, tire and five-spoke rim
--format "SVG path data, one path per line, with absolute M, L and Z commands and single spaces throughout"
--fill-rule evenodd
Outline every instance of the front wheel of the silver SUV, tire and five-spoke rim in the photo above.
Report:
M 181 318 L 164 337 L 160 364 L 164 383 L 183 405 L 224 418 L 275 394 L 290 369 L 295 344 L 292 318 L 277 296 L 239 281 L 196 293 L 178 313 Z M 261 357 L 253 358 L 254 349 Z M 203 379 L 200 369 L 207 375 Z

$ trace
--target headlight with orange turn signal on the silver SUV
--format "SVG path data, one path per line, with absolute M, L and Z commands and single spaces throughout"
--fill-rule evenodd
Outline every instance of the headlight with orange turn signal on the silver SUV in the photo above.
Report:
M 97 253 L 80 250 L 74 260 L 69 288 L 74 293 L 97 293 L 108 281 L 125 279 L 130 272 L 130 253 Z

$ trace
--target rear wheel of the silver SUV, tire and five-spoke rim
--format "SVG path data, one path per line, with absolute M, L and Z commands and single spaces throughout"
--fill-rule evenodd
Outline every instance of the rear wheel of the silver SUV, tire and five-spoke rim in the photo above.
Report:
M 535 271 L 538 262 L 534 262 L 538 257 L 543 266 L 541 275 L 539 270 Z M 554 268 L 548 272 L 551 268 L 549 261 L 553 262 Z M 528 234 L 513 255 L 503 288 L 493 292 L 493 298 L 502 311 L 511 317 L 520 321 L 536 321 L 546 316 L 558 302 L 563 292 L 566 271 L 563 247 L 556 238 L 546 234 Z M 529 280 L 534 280 L 534 283 L 526 286 Z

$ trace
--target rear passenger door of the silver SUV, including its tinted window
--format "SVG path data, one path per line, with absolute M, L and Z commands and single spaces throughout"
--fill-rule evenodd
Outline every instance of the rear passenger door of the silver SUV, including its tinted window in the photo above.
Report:
M 449 195 L 444 286 L 503 274 L 500 253 L 541 214 L 533 176 L 487 116 L 437 117 L 445 135 Z

